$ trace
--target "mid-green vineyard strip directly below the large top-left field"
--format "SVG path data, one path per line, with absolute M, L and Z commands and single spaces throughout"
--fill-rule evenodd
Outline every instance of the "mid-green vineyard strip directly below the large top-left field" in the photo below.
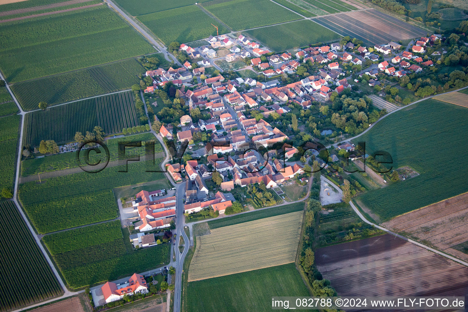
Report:
M 143 66 L 134 59 L 99 65 L 74 72 L 27 80 L 11 85 L 23 110 L 37 109 L 41 101 L 49 106 L 95 95 L 130 89 L 138 84 Z M 34 92 L 31 92 L 34 90 Z

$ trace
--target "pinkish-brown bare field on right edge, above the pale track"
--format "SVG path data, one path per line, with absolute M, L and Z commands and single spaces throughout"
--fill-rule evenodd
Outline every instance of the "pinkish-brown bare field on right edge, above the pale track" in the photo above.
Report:
M 468 241 L 468 193 L 411 211 L 382 226 L 425 245 L 468 261 L 454 247 Z

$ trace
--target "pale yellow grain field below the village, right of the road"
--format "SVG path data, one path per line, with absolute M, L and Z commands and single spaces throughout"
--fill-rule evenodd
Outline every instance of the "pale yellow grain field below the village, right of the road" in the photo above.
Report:
M 189 282 L 294 262 L 302 215 L 291 212 L 198 236 Z

